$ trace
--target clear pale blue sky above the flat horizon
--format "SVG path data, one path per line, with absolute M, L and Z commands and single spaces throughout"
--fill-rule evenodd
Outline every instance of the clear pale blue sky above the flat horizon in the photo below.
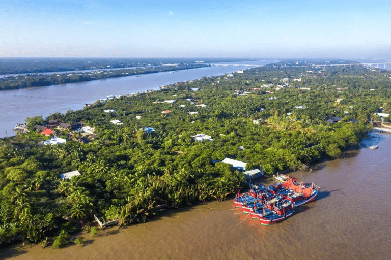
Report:
M 1 0 L 0 57 L 391 58 L 390 0 Z

